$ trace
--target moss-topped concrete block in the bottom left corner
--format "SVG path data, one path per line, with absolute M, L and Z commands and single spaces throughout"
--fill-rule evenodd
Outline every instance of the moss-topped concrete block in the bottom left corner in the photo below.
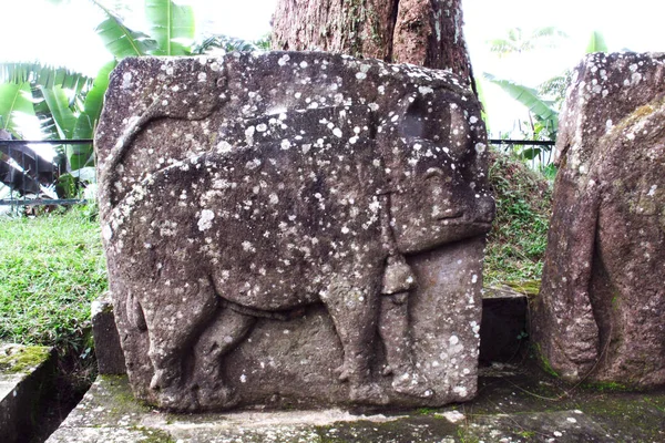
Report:
M 0 440 L 27 441 L 53 372 L 52 348 L 0 344 Z

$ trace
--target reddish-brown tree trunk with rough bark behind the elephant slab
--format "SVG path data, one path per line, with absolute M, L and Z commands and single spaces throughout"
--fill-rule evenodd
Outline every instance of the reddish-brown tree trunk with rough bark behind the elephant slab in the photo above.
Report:
M 473 84 L 461 0 L 279 0 L 273 49 L 450 69 Z

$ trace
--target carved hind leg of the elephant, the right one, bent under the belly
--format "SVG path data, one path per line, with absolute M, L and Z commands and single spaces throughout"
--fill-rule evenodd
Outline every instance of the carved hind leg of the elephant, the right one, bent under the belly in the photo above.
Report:
M 224 385 L 222 358 L 247 336 L 255 322 L 255 317 L 226 308 L 217 313 L 201 334 L 194 348 L 201 408 L 231 408 L 237 402 L 235 393 Z

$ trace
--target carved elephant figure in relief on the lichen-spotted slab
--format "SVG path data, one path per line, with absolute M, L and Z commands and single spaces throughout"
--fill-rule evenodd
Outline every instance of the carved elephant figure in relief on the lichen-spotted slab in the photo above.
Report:
M 119 171 L 139 169 L 131 156 L 143 154 L 116 147 L 150 136 L 150 119 L 124 131 L 103 169 L 102 233 L 121 338 L 147 336 L 141 370 L 152 381 L 140 396 L 176 410 L 232 406 L 224 356 L 257 318 L 288 319 L 315 303 L 341 343 L 350 402 L 388 401 L 372 380 L 377 333 L 393 390 L 431 394 L 402 377 L 416 372 L 406 299 L 419 284 L 405 256 L 482 236 L 494 215 L 478 102 L 448 84 L 409 84 L 391 112 L 365 100 L 262 104 L 263 116 L 224 120 L 211 150 L 126 183 Z

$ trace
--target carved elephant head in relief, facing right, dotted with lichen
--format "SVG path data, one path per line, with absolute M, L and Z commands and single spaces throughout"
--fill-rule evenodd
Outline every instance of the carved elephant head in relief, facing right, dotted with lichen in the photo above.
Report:
M 428 99 L 430 97 L 430 99 Z M 408 97 L 388 133 L 391 224 L 401 253 L 485 234 L 494 218 L 475 102 L 434 92 Z M 386 142 L 383 142 L 386 143 Z

